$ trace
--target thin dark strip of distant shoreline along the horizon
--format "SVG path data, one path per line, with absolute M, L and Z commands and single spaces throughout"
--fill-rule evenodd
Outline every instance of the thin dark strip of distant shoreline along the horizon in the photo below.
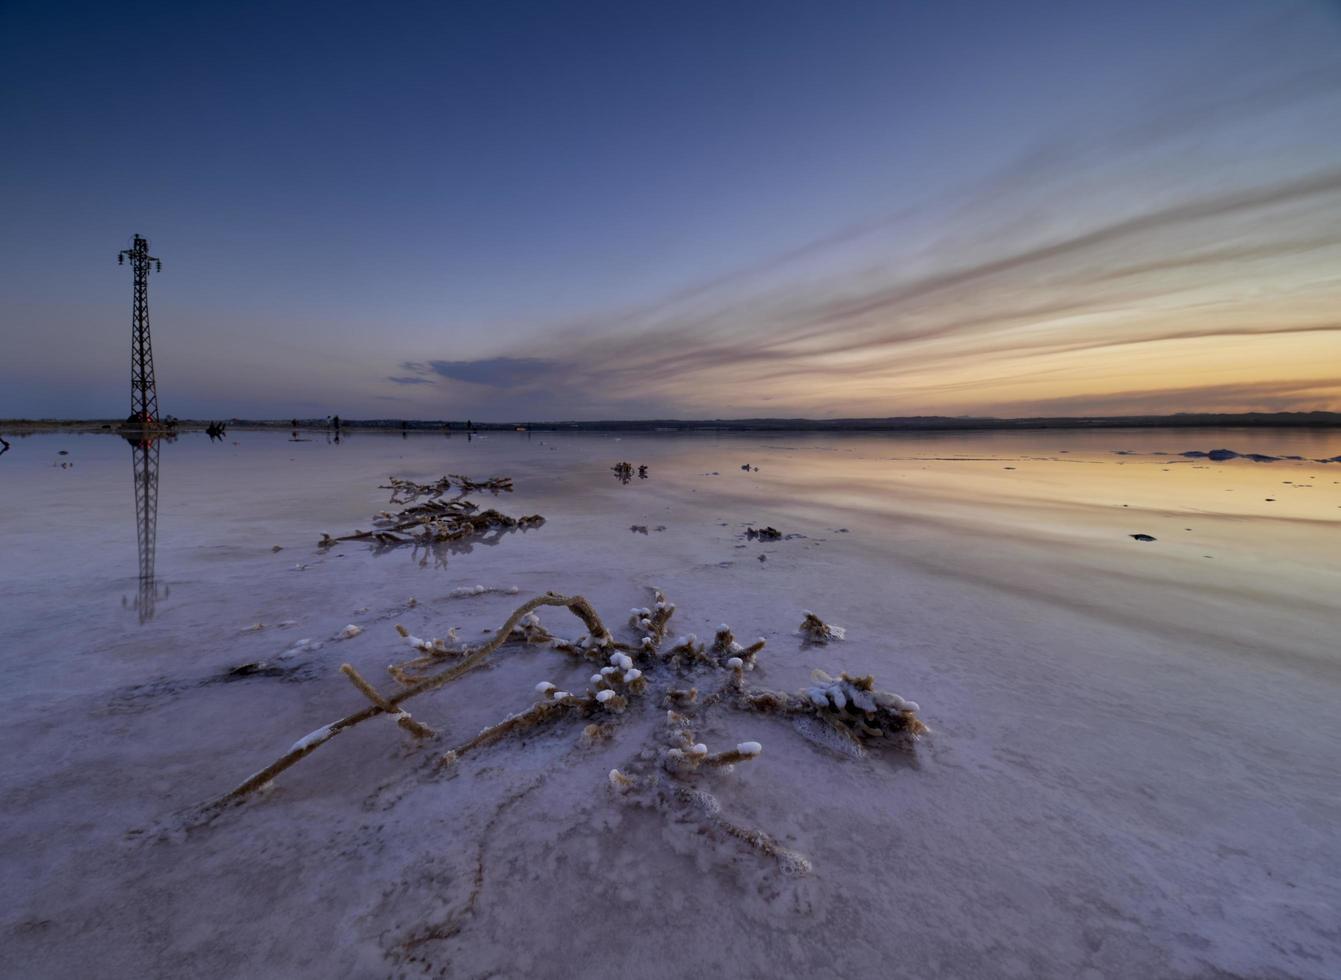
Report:
M 178 432 L 202 430 L 211 421 L 223 421 L 229 429 L 291 429 L 291 418 L 194 420 L 177 421 Z M 334 429 L 327 418 L 299 418 L 299 429 Z M 24 432 L 118 432 L 121 420 L 84 418 L 4 418 L 0 433 Z M 1173 416 L 1094 416 L 988 418 L 913 416 L 892 418 L 645 418 L 601 421 L 519 420 L 515 422 L 467 422 L 465 420 L 341 420 L 341 429 L 380 432 L 956 432 L 1000 429 L 1329 429 L 1341 428 L 1338 412 L 1247 412 L 1247 413 L 1180 413 Z

